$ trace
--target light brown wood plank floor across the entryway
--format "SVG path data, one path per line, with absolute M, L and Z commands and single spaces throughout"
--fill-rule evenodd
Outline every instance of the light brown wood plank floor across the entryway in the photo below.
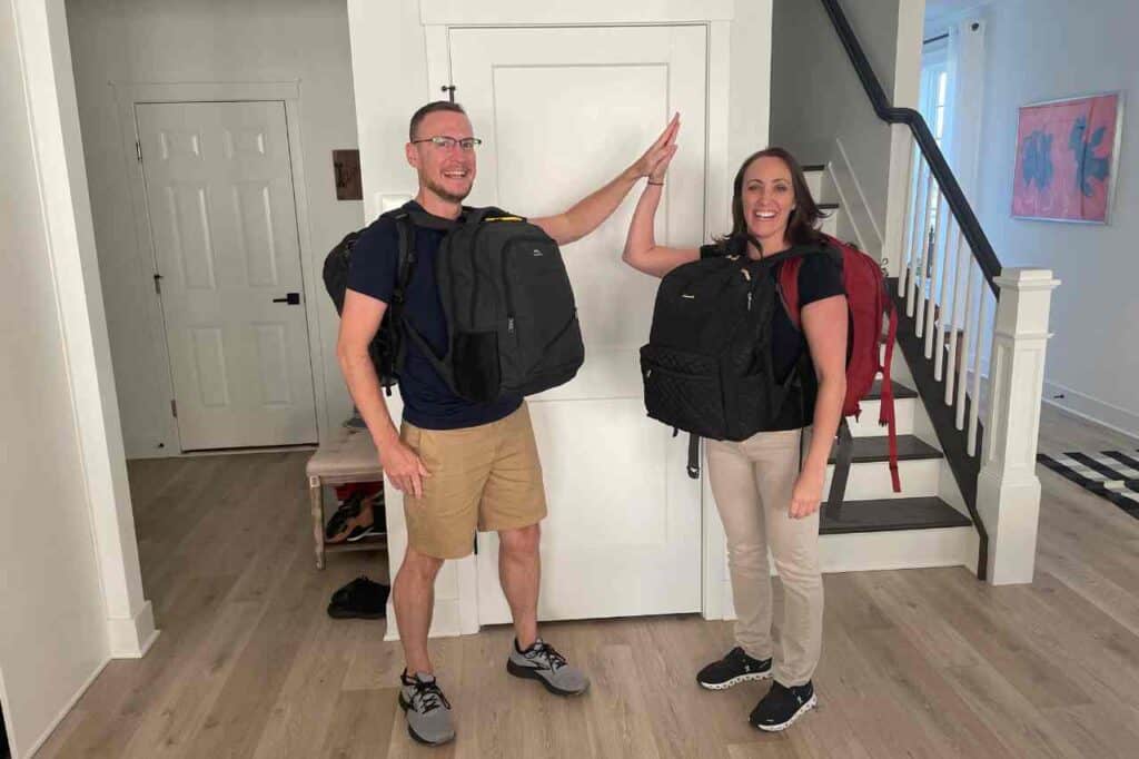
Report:
M 1041 450 L 1121 436 L 1046 410 Z M 1039 468 L 1032 586 L 964 569 L 830 574 L 818 711 L 781 735 L 745 718 L 765 686 L 702 691 L 731 645 L 696 617 L 559 623 L 593 678 L 562 700 L 509 678 L 510 632 L 433 644 L 458 741 L 415 745 L 384 621 L 335 621 L 331 591 L 378 555 L 313 568 L 304 454 L 131 464 L 147 597 L 163 630 L 113 661 L 40 757 L 1134 757 L 1139 520 Z

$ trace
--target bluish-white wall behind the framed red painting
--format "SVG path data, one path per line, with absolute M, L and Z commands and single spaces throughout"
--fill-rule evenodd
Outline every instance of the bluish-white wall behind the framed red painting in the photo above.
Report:
M 1054 294 L 1044 399 L 1139 435 L 1139 5 L 1134 0 L 1003 0 L 988 21 L 977 215 L 1006 267 L 1051 269 Z M 1056 51 L 1063 50 L 1057 59 Z M 1010 217 L 1017 108 L 1123 90 L 1124 113 L 1109 226 Z

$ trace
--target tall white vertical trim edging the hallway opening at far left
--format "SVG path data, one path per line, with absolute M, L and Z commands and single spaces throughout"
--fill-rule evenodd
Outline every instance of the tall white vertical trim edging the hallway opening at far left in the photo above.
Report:
M 146 605 L 63 0 L 14 0 L 105 625 Z

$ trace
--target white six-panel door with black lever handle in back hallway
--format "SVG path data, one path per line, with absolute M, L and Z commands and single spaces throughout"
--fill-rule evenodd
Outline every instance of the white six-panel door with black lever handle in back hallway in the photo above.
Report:
M 136 113 L 182 450 L 316 442 L 285 104 Z

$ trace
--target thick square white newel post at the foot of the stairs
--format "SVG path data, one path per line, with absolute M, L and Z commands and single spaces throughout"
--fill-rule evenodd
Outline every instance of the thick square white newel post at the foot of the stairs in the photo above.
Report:
M 989 533 L 989 581 L 1032 582 L 1040 521 L 1036 440 L 1048 348 L 1048 312 L 1059 283 L 1046 269 L 1005 269 L 989 367 L 990 402 L 977 478 Z

